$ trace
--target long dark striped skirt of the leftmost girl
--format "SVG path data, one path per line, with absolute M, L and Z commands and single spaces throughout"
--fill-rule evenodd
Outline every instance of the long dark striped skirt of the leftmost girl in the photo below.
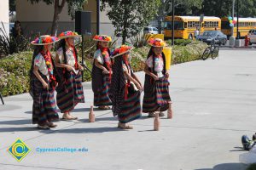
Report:
M 48 82 L 46 76 L 41 74 L 45 82 Z M 56 110 L 55 90 L 53 88 L 46 89 L 37 77 L 32 75 L 31 94 L 33 98 L 32 106 L 32 123 L 45 125 L 47 122 L 59 120 Z

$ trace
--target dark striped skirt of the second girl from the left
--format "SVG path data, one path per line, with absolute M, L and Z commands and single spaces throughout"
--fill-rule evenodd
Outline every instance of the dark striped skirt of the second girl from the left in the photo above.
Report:
M 82 74 L 73 71 L 68 72 L 67 82 L 57 90 L 57 105 L 61 113 L 73 111 L 78 103 L 84 103 L 84 90 L 82 85 Z

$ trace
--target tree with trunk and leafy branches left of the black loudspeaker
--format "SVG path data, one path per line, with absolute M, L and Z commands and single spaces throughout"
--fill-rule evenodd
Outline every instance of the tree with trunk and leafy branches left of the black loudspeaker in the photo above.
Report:
M 81 10 L 84 3 L 87 2 L 87 0 L 27 0 L 33 3 L 39 3 L 40 1 L 43 1 L 46 4 L 53 4 L 55 7 L 52 26 L 51 26 L 51 35 L 55 35 L 55 32 L 58 29 L 58 21 L 60 20 L 60 14 L 62 12 L 62 9 L 64 8 L 65 4 L 68 5 L 68 14 L 71 15 L 72 19 L 74 18 L 74 13 L 76 10 Z

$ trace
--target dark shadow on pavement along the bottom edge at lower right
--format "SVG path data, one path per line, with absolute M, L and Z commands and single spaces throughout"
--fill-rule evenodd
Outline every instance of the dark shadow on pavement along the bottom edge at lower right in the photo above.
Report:
M 242 163 L 222 163 L 213 168 L 201 168 L 195 170 L 246 170 L 247 165 Z

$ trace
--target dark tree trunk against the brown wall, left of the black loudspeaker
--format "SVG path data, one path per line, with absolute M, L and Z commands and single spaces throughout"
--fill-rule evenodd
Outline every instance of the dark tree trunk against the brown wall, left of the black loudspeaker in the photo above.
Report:
M 55 0 L 55 13 L 54 13 L 51 31 L 50 31 L 50 34 L 52 36 L 55 36 L 55 33 L 57 33 L 56 31 L 58 30 L 58 21 L 60 20 L 60 14 L 66 2 L 67 0 L 62 0 L 60 5 L 60 1 Z

